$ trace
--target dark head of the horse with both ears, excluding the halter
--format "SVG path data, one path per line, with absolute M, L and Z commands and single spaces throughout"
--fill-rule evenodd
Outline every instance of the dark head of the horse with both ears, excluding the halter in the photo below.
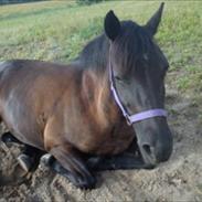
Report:
M 132 124 L 141 156 L 149 166 L 168 160 L 172 151 L 172 135 L 162 116 L 169 64 L 153 41 L 162 9 L 163 3 L 143 26 L 132 21 L 119 22 L 113 11 L 105 18 L 105 33 L 110 41 L 109 67 L 124 108 L 129 115 L 162 109 L 159 116 Z

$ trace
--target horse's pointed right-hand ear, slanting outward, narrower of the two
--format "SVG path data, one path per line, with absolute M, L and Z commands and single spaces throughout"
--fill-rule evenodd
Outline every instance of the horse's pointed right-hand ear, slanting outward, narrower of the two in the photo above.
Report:
M 151 17 L 151 19 L 146 24 L 146 29 L 151 33 L 151 35 L 155 35 L 157 33 L 159 23 L 161 21 L 163 7 L 164 3 L 162 2 L 158 11 Z

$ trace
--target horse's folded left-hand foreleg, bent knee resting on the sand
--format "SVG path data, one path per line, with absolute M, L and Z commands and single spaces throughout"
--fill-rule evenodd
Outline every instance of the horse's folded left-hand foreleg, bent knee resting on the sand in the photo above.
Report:
M 71 146 L 57 146 L 50 150 L 55 158 L 50 161 L 50 167 L 66 177 L 74 185 L 82 189 L 95 187 L 95 178 L 91 174 L 82 160 L 81 153 Z

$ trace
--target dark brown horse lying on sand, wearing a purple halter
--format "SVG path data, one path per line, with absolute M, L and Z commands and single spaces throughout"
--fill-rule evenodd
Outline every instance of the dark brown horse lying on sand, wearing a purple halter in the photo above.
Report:
M 91 168 L 153 168 L 171 155 L 163 109 L 169 64 L 153 41 L 162 9 L 143 26 L 109 11 L 105 34 L 68 65 L 0 64 L 1 120 L 33 152 L 51 153 L 52 168 L 79 188 L 95 185 Z M 124 152 L 136 141 L 140 158 Z

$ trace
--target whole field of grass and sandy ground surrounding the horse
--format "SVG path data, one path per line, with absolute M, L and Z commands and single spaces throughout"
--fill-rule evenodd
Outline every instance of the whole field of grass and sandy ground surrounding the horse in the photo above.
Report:
M 0 61 L 38 59 L 67 63 L 102 33 L 108 10 L 113 9 L 121 20 L 143 24 L 159 4 L 127 0 L 88 7 L 72 1 L 0 7 Z M 25 183 L 0 187 L 0 202 L 202 201 L 202 2 L 166 1 L 156 40 L 170 63 L 166 81 L 169 125 L 174 138 L 170 160 L 150 171 L 97 173 L 98 184 L 93 191 L 78 190 L 40 166 Z M 13 146 L 11 151 L 17 155 L 19 148 Z M 14 168 L 11 152 L 0 145 L 0 174 L 11 174 Z

